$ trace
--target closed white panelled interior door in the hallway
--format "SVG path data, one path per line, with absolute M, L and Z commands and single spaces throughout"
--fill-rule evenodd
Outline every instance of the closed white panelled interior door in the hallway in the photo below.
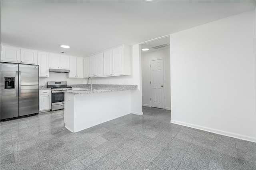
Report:
M 151 107 L 164 109 L 164 59 L 150 61 Z

